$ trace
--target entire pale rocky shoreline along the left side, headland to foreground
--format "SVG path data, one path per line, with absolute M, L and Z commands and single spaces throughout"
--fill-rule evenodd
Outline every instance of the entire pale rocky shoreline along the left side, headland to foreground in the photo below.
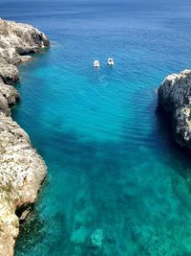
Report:
M 19 100 L 15 64 L 49 45 L 32 26 L 0 19 L 0 256 L 13 255 L 19 220 L 32 209 L 47 172 L 28 134 L 11 119 L 10 107 Z

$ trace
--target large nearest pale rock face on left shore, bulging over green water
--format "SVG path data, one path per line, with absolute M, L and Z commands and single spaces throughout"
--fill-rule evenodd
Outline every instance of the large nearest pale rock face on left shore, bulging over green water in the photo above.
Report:
M 15 211 L 36 199 L 46 165 L 30 138 L 11 117 L 0 113 L 0 255 L 13 254 L 19 221 Z

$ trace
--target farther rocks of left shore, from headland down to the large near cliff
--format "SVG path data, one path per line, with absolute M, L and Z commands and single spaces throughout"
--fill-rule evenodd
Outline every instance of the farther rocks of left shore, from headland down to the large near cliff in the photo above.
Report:
M 10 115 L 9 106 L 19 100 L 16 89 L 8 86 L 19 81 L 15 64 L 32 60 L 30 53 L 49 45 L 46 35 L 31 25 L 0 19 L 0 111 Z

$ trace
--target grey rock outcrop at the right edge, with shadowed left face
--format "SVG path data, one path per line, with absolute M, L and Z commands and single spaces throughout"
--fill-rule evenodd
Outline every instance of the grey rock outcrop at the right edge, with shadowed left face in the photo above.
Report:
M 168 76 L 158 94 L 159 105 L 172 113 L 177 142 L 191 149 L 191 70 Z

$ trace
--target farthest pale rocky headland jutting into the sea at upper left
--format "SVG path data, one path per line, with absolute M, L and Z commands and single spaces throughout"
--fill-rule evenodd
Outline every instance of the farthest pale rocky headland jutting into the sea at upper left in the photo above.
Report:
M 31 25 L 0 19 L 0 57 L 9 63 L 18 63 L 22 61 L 20 56 L 49 45 L 47 36 Z

